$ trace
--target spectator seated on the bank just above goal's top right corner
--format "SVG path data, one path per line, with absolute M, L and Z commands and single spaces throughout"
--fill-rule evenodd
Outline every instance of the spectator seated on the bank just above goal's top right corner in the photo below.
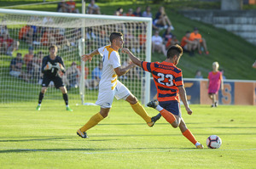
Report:
M 155 14 L 154 25 L 157 27 L 163 27 L 165 29 L 171 26 L 171 29 L 174 30 L 171 20 L 169 20 L 168 16 L 166 15 L 164 7 L 160 7 L 159 11 Z

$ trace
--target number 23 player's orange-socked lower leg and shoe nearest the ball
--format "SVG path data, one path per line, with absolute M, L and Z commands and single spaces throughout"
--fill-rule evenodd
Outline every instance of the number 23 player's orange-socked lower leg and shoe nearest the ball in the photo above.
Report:
M 188 138 L 189 141 L 192 143 L 192 144 L 195 144 L 195 147 L 197 149 L 203 149 L 203 145 L 200 144 L 196 139 L 195 139 L 195 136 L 193 135 L 192 132 L 189 131 L 189 129 L 186 127 L 186 124 L 185 122 L 183 121 L 183 118 L 180 118 L 181 121 L 180 121 L 180 124 L 179 124 L 179 129 L 180 131 L 183 133 L 183 136 L 185 138 Z

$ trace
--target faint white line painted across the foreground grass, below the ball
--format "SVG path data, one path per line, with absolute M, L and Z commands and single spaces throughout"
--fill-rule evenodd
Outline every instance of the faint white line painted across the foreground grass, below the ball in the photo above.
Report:
M 0 153 L 1 149 L 6 150 L 9 148 L 0 148 Z M 171 150 L 171 149 L 166 149 L 166 150 L 139 150 L 139 151 L 90 151 L 90 152 L 81 152 L 81 151 L 75 151 L 75 150 L 50 150 L 50 149 L 14 149 L 11 148 L 9 150 L 20 150 L 20 151 L 36 151 L 36 152 L 65 152 L 65 153 L 81 153 L 81 154 L 86 154 L 86 155 L 96 155 L 96 154 L 131 154 L 131 153 L 166 153 L 166 152 L 189 152 L 189 151 L 201 151 L 203 149 L 176 149 L 176 150 Z M 252 151 L 256 150 L 256 148 L 253 149 L 211 149 L 214 151 Z M 84 150 L 86 151 L 86 150 Z M 17 152 L 18 153 L 18 152 Z

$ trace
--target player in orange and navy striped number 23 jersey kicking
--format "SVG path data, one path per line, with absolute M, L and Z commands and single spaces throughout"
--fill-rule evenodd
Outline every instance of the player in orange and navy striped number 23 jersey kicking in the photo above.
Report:
M 179 127 L 184 137 L 195 144 L 196 148 L 203 149 L 203 145 L 196 141 L 192 132 L 186 127 L 180 110 L 179 98 L 182 99 L 188 114 L 192 114 L 192 110 L 190 110 L 187 101 L 186 91 L 183 87 L 182 70 L 176 67 L 183 54 L 183 48 L 179 45 L 171 46 L 167 51 L 166 60 L 161 63 L 141 61 L 131 54 L 131 51 L 127 48 L 123 48 L 122 52 L 128 54 L 134 64 L 150 72 L 154 78 L 159 104 L 155 101 L 151 101 L 148 103 L 148 106 L 159 110 L 160 115 L 162 115 L 172 127 Z

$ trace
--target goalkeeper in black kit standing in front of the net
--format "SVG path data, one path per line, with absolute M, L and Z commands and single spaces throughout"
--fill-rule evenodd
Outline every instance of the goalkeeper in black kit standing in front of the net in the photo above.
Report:
M 57 51 L 58 48 L 55 45 L 50 46 L 49 55 L 44 56 L 42 63 L 42 72 L 44 73 L 44 77 L 42 89 L 39 93 L 37 110 L 41 109 L 41 103 L 44 99 L 44 93 L 46 93 L 47 87 L 49 86 L 49 82 L 54 82 L 55 87 L 61 89 L 61 93 L 63 94 L 63 99 L 66 104 L 66 110 L 73 111 L 68 106 L 67 88 L 64 86 L 61 76 L 59 75 L 60 70 L 62 73 L 65 73 L 65 66 L 61 57 L 57 55 Z

